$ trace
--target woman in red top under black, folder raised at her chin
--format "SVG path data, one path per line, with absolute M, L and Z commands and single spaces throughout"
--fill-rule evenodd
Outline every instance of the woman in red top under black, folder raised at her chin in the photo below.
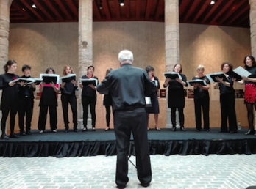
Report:
M 54 74 L 55 71 L 51 67 L 46 69 L 46 73 Z M 47 111 L 49 108 L 50 114 L 50 127 L 53 133 L 57 133 L 57 94 L 59 93 L 59 84 L 46 84 L 42 82 L 39 86 L 40 91 L 40 112 L 38 119 L 39 133 L 43 133 L 46 129 Z

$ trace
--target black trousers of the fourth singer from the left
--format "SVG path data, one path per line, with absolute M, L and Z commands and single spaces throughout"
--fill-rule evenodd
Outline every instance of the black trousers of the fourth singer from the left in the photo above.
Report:
M 63 105 L 63 119 L 65 123 L 65 128 L 68 129 L 68 124 L 69 124 L 69 121 L 68 121 L 68 103 L 69 103 L 71 106 L 72 114 L 73 114 L 74 129 L 77 129 L 77 97 L 62 94 L 61 102 Z

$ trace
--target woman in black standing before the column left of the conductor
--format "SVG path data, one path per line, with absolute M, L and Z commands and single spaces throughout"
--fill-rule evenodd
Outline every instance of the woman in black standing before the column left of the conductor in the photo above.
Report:
M 94 67 L 89 66 L 87 69 L 87 75 L 83 75 L 82 78 L 98 78 L 93 75 L 94 73 Z M 99 82 L 98 82 L 99 84 Z M 96 94 L 96 86 L 93 86 L 93 84 L 89 84 L 88 86 L 83 86 L 80 84 L 80 88 L 82 89 L 82 108 L 83 108 L 83 123 L 84 123 L 84 129 L 82 132 L 87 131 L 87 119 L 88 119 L 88 106 L 90 105 L 90 114 L 91 114 L 91 121 L 92 121 L 92 127 L 93 131 L 95 131 L 95 123 L 96 123 L 96 100 L 97 100 L 97 94 Z

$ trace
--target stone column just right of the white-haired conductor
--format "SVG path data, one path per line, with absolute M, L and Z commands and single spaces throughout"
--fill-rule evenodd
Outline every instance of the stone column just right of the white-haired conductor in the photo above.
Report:
M 172 72 L 174 65 L 179 63 L 179 0 L 165 0 L 165 40 L 166 72 Z M 171 109 L 168 108 L 167 94 L 168 89 L 166 89 L 166 127 L 170 128 L 172 127 Z M 176 120 L 179 127 L 178 115 Z

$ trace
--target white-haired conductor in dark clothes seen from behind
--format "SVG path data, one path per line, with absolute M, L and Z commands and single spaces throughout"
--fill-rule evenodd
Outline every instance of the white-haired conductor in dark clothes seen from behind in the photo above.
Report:
M 147 136 L 147 115 L 145 94 L 155 90 L 149 75 L 141 68 L 132 67 L 131 51 L 118 54 L 120 68 L 110 72 L 97 86 L 101 94 L 110 94 L 114 111 L 117 163 L 115 183 L 125 188 L 129 178 L 128 150 L 130 136 L 134 138 L 138 179 L 143 187 L 149 186 L 152 179 Z

